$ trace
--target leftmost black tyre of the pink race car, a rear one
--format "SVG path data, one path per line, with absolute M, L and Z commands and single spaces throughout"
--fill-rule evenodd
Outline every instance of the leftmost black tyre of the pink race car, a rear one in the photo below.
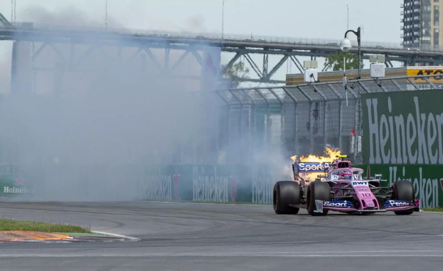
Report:
M 300 208 L 300 185 L 295 181 L 279 181 L 274 185 L 272 205 L 276 214 L 296 214 Z

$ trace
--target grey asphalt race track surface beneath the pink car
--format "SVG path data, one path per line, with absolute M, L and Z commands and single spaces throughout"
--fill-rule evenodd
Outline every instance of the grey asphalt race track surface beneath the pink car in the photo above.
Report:
M 1 216 L 139 241 L 0 243 L 1 270 L 443 270 L 443 213 L 276 215 L 269 205 L 0 203 Z

